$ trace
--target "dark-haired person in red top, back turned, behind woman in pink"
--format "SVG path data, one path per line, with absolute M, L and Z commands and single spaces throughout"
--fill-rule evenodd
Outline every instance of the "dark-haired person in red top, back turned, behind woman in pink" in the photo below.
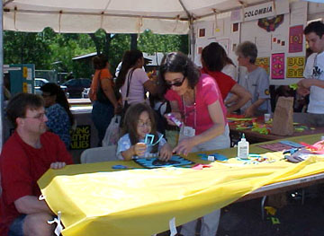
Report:
M 251 94 L 229 75 L 221 72 L 227 63 L 226 52 L 217 42 L 212 42 L 202 49 L 202 74 L 210 74 L 216 80 L 223 101 L 227 98 L 229 92 L 238 97 L 237 102 L 227 106 L 228 113 L 232 113 L 251 100 Z

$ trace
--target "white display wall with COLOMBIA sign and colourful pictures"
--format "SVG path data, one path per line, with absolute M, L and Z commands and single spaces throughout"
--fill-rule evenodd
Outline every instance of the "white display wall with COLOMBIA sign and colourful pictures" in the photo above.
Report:
M 267 21 L 262 20 L 264 16 Z M 289 4 L 289 1 L 281 0 L 275 1 L 275 5 L 273 2 L 258 4 L 203 19 L 194 24 L 194 61 L 201 65 L 202 48 L 217 41 L 238 65 L 235 47 L 239 42 L 249 40 L 256 43 L 257 63 L 269 72 L 271 84 L 297 83 L 302 78 L 305 65 L 306 42 L 302 31 L 308 20 L 318 19 L 319 16 L 324 17 L 324 4 Z

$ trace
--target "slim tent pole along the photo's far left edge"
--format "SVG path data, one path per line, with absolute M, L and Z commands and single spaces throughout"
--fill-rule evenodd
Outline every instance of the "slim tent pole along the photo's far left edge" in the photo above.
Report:
M 4 24 L 3 4 L 0 7 L 0 153 L 4 145 Z

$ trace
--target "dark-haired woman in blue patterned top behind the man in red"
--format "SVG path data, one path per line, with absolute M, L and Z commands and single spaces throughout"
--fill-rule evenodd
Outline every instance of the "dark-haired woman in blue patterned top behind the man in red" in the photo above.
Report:
M 45 83 L 40 87 L 40 90 L 45 101 L 48 118 L 46 125 L 49 127 L 49 131 L 59 136 L 68 149 L 71 142 L 69 132 L 75 120 L 69 109 L 66 94 L 56 83 Z

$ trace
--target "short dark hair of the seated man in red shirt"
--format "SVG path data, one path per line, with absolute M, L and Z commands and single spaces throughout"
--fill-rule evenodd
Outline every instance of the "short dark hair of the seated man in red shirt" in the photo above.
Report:
M 16 118 L 24 118 L 27 109 L 40 109 L 44 107 L 44 104 L 44 100 L 40 95 L 21 92 L 14 95 L 9 101 L 6 115 L 14 127 L 17 127 Z

